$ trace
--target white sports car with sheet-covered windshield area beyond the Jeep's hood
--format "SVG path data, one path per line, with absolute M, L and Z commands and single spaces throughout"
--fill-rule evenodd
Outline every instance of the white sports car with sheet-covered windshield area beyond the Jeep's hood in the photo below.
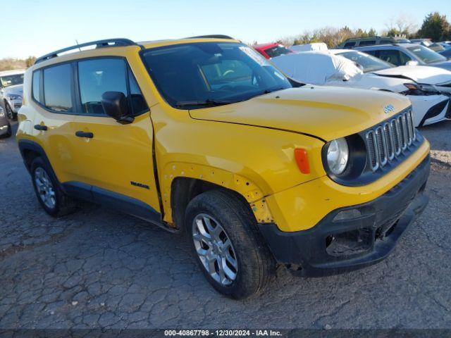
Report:
M 423 65 L 395 67 L 351 49 L 305 51 L 272 58 L 293 79 L 318 85 L 397 92 L 412 102 L 417 127 L 451 118 L 451 72 Z

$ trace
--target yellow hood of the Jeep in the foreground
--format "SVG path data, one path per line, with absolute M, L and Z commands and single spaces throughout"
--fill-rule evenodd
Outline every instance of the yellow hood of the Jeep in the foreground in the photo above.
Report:
M 384 113 L 384 107 L 394 110 Z M 194 119 L 298 132 L 324 141 L 380 123 L 407 108 L 406 97 L 376 90 L 306 85 L 257 96 L 236 104 L 193 109 Z

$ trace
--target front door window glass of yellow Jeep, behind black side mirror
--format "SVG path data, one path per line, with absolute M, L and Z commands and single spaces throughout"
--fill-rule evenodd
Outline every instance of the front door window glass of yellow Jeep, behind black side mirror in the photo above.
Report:
M 127 96 L 125 61 L 101 58 L 78 62 L 78 83 L 82 113 L 104 115 L 101 95 L 104 92 L 123 92 Z

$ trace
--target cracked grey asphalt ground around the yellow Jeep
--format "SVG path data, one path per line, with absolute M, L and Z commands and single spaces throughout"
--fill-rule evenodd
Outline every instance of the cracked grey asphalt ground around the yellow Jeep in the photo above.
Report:
M 281 268 L 245 301 L 214 292 L 179 235 L 99 206 L 47 216 L 0 139 L 0 328 L 450 328 L 451 121 L 424 134 L 431 200 L 388 259 L 323 278 Z

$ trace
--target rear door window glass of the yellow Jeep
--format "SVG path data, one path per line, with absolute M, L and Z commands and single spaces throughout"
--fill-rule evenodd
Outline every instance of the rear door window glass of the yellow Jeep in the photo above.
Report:
M 69 63 L 44 69 L 44 105 L 53 111 L 72 111 L 72 66 Z

